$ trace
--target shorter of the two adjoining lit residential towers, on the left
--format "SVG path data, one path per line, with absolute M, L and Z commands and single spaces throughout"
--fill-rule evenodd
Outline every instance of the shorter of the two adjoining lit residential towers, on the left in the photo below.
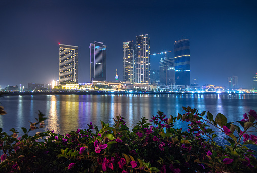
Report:
M 123 81 L 135 82 L 135 44 L 123 42 Z

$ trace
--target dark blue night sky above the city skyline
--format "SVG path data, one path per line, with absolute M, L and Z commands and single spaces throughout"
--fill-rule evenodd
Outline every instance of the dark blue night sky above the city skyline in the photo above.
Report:
M 252 88 L 257 73 L 256 1 L 0 1 L 0 85 L 51 83 L 59 45 L 79 46 L 79 83 L 89 82 L 90 42 L 107 46 L 107 80 L 123 80 L 123 42 L 148 34 L 151 54 L 190 40 L 191 83 Z M 159 69 L 162 56 L 151 56 Z

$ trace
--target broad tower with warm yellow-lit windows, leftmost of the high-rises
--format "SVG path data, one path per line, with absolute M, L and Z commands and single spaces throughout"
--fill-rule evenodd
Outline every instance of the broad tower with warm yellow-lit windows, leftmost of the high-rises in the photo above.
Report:
M 59 44 L 59 81 L 78 83 L 78 46 Z

